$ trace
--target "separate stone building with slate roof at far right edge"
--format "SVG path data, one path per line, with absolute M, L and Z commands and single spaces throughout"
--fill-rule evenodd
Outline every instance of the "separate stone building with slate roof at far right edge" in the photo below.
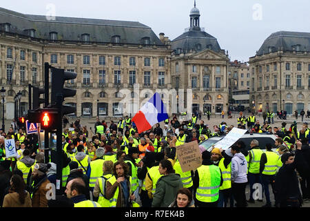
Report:
M 250 104 L 255 111 L 310 109 L 310 33 L 275 32 L 250 57 Z M 252 104 L 253 103 L 253 104 Z

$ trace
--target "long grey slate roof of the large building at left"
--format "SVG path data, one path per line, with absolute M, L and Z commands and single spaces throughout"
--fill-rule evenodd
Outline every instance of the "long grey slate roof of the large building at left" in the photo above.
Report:
M 42 15 L 24 15 L 0 8 L 0 23 L 10 23 L 10 32 L 25 35 L 25 30 L 34 29 L 35 37 L 50 39 L 50 32 L 57 32 L 58 39 L 81 41 L 81 35 L 89 34 L 90 41 L 112 42 L 112 37 L 121 37 L 121 44 L 141 44 L 141 39 L 149 37 L 150 45 L 163 46 L 152 28 L 137 21 L 114 21 L 105 19 L 83 19 L 55 17 L 48 20 Z

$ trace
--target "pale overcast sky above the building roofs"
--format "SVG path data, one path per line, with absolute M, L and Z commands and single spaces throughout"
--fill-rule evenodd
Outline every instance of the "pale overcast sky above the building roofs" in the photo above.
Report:
M 218 39 L 231 60 L 248 61 L 279 30 L 310 32 L 309 0 L 197 0 L 200 26 Z M 189 27 L 194 0 L 10 0 L 0 7 L 30 15 L 139 21 L 173 40 Z

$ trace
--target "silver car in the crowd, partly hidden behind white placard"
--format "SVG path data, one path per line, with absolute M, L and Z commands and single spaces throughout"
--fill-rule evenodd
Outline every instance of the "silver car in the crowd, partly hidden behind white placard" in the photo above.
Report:
M 204 140 L 199 145 L 202 145 L 207 151 L 211 151 L 212 145 L 216 144 L 220 140 L 222 140 L 225 137 L 225 135 L 220 137 L 210 137 L 208 140 Z M 242 137 L 239 140 L 242 140 L 242 142 L 245 143 L 245 146 L 247 147 L 247 151 L 250 150 L 250 143 L 251 140 L 258 140 L 260 149 L 262 151 L 265 151 L 266 144 L 272 144 L 273 148 L 272 151 L 276 152 L 276 146 L 274 145 L 276 139 L 278 138 L 277 135 L 269 135 L 266 133 L 245 133 L 242 135 Z M 238 141 L 239 141 L 238 140 Z M 283 145 L 287 146 L 285 143 Z M 277 152 L 278 153 L 278 152 Z

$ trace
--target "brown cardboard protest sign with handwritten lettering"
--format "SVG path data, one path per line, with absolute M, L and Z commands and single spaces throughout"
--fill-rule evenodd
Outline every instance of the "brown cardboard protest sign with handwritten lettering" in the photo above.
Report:
M 196 140 L 176 146 L 176 156 L 178 157 L 183 173 L 196 170 L 203 162 Z

